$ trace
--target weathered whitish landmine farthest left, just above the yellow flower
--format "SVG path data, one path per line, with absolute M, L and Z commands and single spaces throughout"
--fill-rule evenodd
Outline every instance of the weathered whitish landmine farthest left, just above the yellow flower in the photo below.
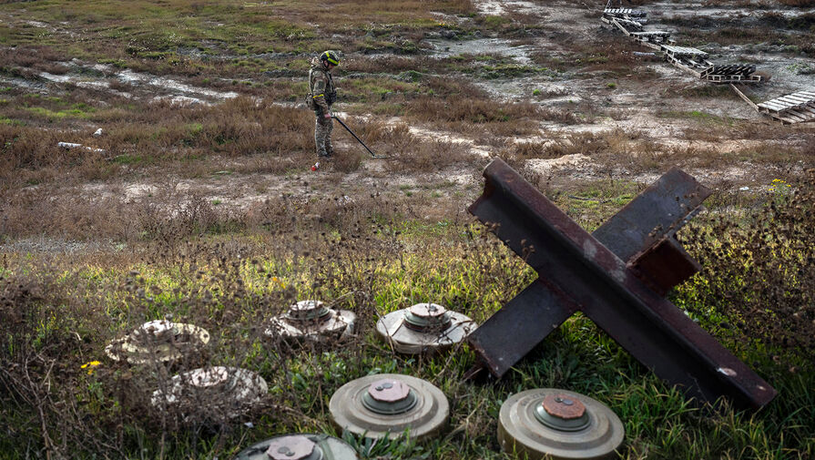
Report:
M 114 361 L 131 364 L 165 363 L 199 351 L 209 332 L 192 324 L 155 320 L 145 322 L 121 339 L 110 342 L 105 353 Z

